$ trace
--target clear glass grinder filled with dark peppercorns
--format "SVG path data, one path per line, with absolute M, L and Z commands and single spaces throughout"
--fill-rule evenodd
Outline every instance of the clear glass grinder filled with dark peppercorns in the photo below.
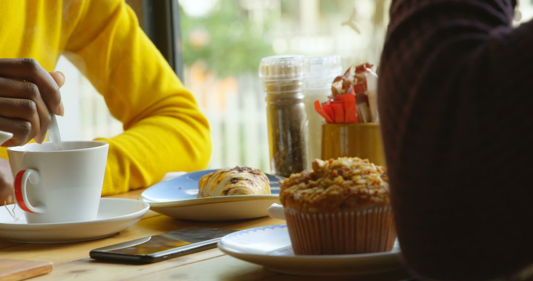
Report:
M 304 104 L 304 56 L 269 56 L 259 76 L 266 94 L 266 118 L 272 172 L 289 177 L 307 165 L 307 117 Z

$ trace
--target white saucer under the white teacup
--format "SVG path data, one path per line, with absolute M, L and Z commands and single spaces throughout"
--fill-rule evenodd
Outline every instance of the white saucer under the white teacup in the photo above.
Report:
M 150 208 L 139 200 L 102 198 L 96 220 L 28 224 L 18 206 L 15 216 L 19 220 L 11 217 L 7 209 L 13 206 L 0 206 L 0 238 L 22 243 L 69 243 L 112 236 L 136 224 Z

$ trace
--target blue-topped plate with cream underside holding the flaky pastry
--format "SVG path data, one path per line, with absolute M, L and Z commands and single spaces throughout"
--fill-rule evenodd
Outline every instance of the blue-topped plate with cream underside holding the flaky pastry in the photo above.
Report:
M 152 211 L 177 219 L 225 221 L 253 219 L 268 216 L 267 209 L 279 202 L 281 177 L 266 175 L 270 179 L 272 194 L 233 195 L 197 198 L 198 181 L 216 170 L 187 173 L 161 181 L 144 191 L 139 199 L 150 204 Z

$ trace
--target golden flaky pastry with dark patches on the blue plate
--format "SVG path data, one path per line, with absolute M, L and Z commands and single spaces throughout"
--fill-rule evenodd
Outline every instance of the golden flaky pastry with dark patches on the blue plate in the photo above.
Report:
M 198 183 L 198 198 L 252 194 L 270 194 L 270 180 L 261 170 L 250 167 L 216 170 Z

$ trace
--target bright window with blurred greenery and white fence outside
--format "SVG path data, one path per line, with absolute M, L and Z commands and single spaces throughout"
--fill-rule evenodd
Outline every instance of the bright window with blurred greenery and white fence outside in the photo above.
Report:
M 148 0 L 149 1 L 149 0 Z M 338 54 L 343 68 L 377 64 L 391 0 L 181 0 L 183 82 L 211 124 L 210 168 L 247 165 L 270 170 L 266 112 L 257 68 L 263 56 Z M 130 0 L 142 12 L 141 0 Z M 521 22 L 533 3 L 521 1 Z M 344 24 L 354 13 L 355 27 Z M 360 32 L 356 31 L 358 29 Z M 122 132 L 103 98 L 67 61 L 62 89 L 68 118 L 64 139 L 111 137 Z

